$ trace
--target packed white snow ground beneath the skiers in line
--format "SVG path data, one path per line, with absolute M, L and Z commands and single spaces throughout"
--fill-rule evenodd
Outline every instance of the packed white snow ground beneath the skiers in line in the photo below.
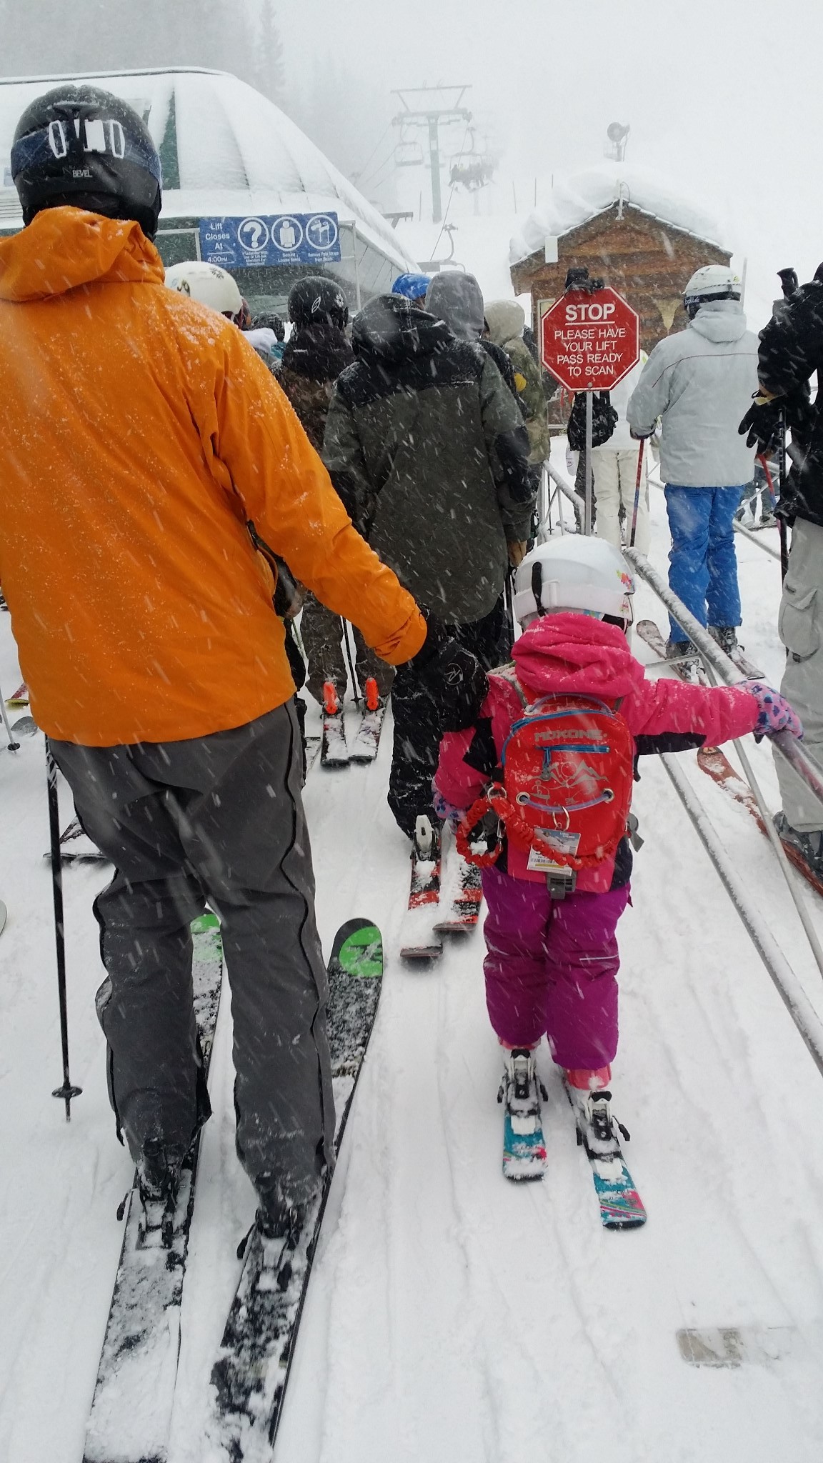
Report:
M 559 465 L 559 464 L 558 464 Z M 652 560 L 665 566 L 653 489 Z M 776 537 L 776 535 L 769 535 Z M 779 565 L 738 540 L 747 651 L 781 674 Z M 662 612 L 637 594 L 638 617 Z M 641 658 L 647 648 L 636 645 Z M 0 682 L 18 664 L 0 620 Z M 242 715 L 242 708 L 239 708 Z M 291 1375 L 281 1463 L 819 1463 L 823 1435 L 820 1077 L 656 758 L 636 811 L 646 846 L 621 929 L 614 1088 L 644 1229 L 602 1230 L 548 1052 L 542 1185 L 501 1175 L 501 1058 L 483 1005 L 483 941 L 432 970 L 397 960 L 407 850 L 373 768 L 310 774 L 306 806 L 328 951 L 353 914 L 379 922 L 387 974 L 334 1179 Z M 753 758 L 778 805 L 770 756 Z M 823 986 L 766 840 L 681 767 L 810 998 Z M 70 1125 L 51 1097 L 60 1034 L 44 749 L 0 749 L 9 906 L 0 980 L 0 1457 L 79 1463 L 132 1165 L 117 1146 L 94 1014 L 97 868 L 66 870 Z M 66 799 L 64 818 L 70 813 Z M 823 932 L 822 906 L 814 914 Z M 231 1024 L 211 1068 L 170 1463 L 206 1463 L 208 1377 L 253 1194 L 233 1150 Z M 753 1361 L 687 1365 L 681 1328 L 745 1330 Z M 146 1407 L 151 1407 L 146 1397 Z

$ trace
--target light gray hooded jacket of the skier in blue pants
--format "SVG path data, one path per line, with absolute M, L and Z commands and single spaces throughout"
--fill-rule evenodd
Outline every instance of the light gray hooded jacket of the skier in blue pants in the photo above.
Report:
M 633 432 L 662 417 L 660 475 L 677 487 L 738 487 L 754 448 L 738 426 L 757 391 L 757 336 L 737 300 L 701 304 L 685 331 L 652 351 L 627 408 Z

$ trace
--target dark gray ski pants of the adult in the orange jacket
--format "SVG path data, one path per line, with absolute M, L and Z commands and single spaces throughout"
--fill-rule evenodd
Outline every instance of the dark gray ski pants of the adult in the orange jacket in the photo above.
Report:
M 259 1194 L 303 1203 L 332 1162 L 334 1102 L 293 702 L 187 742 L 50 745 L 116 866 L 95 901 L 98 1012 L 132 1157 L 146 1140 L 185 1153 L 204 1118 L 189 925 L 208 898 L 231 986 L 237 1154 Z

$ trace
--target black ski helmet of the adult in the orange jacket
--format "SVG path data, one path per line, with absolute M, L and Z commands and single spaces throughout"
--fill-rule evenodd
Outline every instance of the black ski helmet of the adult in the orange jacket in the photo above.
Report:
M 26 224 L 44 208 L 72 203 L 133 218 L 146 238 L 157 234 L 157 148 L 138 113 L 100 86 L 66 82 L 26 107 L 12 145 L 12 177 Z

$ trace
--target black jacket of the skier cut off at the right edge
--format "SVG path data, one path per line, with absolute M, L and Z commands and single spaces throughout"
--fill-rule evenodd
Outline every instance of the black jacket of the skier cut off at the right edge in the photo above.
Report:
M 823 398 L 808 405 L 808 377 L 823 369 L 823 284 L 813 279 L 786 301 L 760 332 L 757 376 L 786 398 L 786 420 L 797 451 L 778 514 L 792 524 L 805 518 L 823 528 Z M 820 380 L 819 375 L 819 380 Z

